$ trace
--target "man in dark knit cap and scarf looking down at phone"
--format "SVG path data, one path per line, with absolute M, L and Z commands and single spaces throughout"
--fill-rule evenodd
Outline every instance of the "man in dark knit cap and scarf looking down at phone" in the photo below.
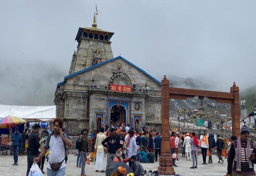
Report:
M 250 131 L 247 126 L 242 126 L 241 136 L 234 140 L 231 144 L 229 157 L 228 157 L 228 172 L 226 176 L 252 176 L 255 175 L 254 164 L 256 164 L 255 159 L 255 147 L 252 142 L 250 142 L 249 135 Z M 232 169 L 232 164 L 234 161 L 234 166 Z

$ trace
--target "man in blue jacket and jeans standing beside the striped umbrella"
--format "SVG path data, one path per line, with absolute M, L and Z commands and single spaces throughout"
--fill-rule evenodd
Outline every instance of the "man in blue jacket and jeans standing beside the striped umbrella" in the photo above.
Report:
M 15 132 L 12 134 L 11 137 L 12 141 L 12 151 L 13 151 L 13 159 L 14 163 L 12 165 L 18 165 L 18 153 L 19 153 L 19 148 L 22 145 L 22 137 L 19 133 L 19 128 L 15 128 Z

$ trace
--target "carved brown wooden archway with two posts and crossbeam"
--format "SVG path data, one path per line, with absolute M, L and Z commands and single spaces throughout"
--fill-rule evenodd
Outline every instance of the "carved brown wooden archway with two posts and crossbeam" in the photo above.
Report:
M 240 107 L 239 107 L 239 87 L 236 83 L 230 87 L 230 93 L 203 91 L 193 89 L 181 89 L 169 87 L 169 80 L 164 76 L 161 81 L 161 157 L 159 158 L 158 172 L 162 175 L 175 175 L 170 157 L 170 137 L 169 137 L 169 99 L 193 98 L 195 96 L 207 97 L 218 103 L 231 104 L 232 135 L 240 136 Z

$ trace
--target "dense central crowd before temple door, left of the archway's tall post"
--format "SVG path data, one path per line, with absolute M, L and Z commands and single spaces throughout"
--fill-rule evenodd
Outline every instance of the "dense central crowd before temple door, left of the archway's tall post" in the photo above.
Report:
M 105 172 L 104 156 L 107 154 L 106 170 L 112 162 L 125 162 L 133 169 L 134 175 L 144 175 L 140 162 L 154 163 L 157 161 L 158 155 L 161 155 L 161 133 L 156 132 L 155 129 L 151 130 L 149 125 L 143 130 L 130 129 L 129 124 L 124 126 L 124 123 L 119 122 L 112 124 L 111 128 L 106 125 L 105 128 L 101 127 L 99 130 L 91 129 L 90 159 L 95 164 L 95 172 Z M 78 139 L 82 145 L 81 149 L 78 149 L 76 167 L 82 167 L 81 175 L 86 175 L 83 168 L 86 159 L 84 153 L 88 151 L 88 144 L 84 145 L 84 143 L 88 140 L 83 140 L 83 138 L 87 137 L 87 133 L 88 130 L 83 129 Z M 82 153 L 83 150 L 85 152 Z M 80 161 L 82 161 L 81 164 Z

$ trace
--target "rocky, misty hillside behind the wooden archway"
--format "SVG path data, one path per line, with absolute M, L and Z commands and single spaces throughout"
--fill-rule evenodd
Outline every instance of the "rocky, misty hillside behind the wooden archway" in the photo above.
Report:
M 170 86 L 172 87 L 200 90 L 210 89 L 209 84 L 202 82 L 200 80 L 195 80 L 192 78 L 179 78 L 173 75 L 169 75 L 168 78 L 170 80 Z M 240 96 L 246 100 L 246 109 L 248 110 L 248 112 L 252 111 L 254 105 L 256 104 L 256 86 L 253 86 L 251 88 L 248 88 L 247 90 L 240 92 Z M 194 109 L 198 110 L 199 107 L 200 100 L 198 99 L 198 97 L 187 98 L 186 100 L 170 99 L 170 113 L 174 121 L 177 121 L 179 108 L 193 111 Z M 214 100 L 204 98 L 203 108 L 205 109 L 205 113 L 207 114 L 207 117 L 203 119 L 204 121 L 209 119 L 213 123 L 216 123 L 217 119 L 219 121 L 225 121 L 225 117 L 221 116 L 220 114 L 227 114 L 227 120 L 231 120 L 231 106 L 229 104 L 216 103 Z M 182 115 L 184 115 L 184 112 L 182 112 Z M 185 113 L 185 115 L 187 116 L 187 113 Z M 187 122 L 193 123 L 196 122 L 197 119 L 198 117 L 196 119 L 188 118 Z

